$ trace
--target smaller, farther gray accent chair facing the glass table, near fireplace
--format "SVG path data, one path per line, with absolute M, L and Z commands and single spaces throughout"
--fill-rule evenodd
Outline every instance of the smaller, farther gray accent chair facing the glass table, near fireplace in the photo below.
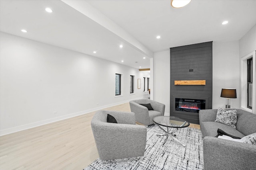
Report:
M 165 105 L 150 99 L 132 100 L 130 109 L 135 113 L 135 120 L 146 126 L 154 124 L 153 118 L 156 116 L 163 116 Z M 154 110 L 148 110 L 147 107 L 140 104 L 150 104 Z

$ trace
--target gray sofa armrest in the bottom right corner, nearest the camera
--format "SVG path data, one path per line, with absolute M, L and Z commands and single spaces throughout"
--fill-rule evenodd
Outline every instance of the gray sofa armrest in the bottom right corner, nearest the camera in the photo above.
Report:
M 204 137 L 203 143 L 205 170 L 255 170 L 255 145 L 216 137 Z

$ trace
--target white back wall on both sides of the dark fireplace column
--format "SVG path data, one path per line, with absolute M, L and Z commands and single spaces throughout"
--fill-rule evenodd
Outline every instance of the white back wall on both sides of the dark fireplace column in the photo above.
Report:
M 200 42 L 199 42 L 200 43 Z M 213 108 L 225 108 L 226 99 L 220 97 L 222 88 L 236 88 L 237 99 L 231 99 L 231 108 L 239 108 L 239 44 L 213 42 Z M 170 113 L 170 50 L 154 53 L 154 100 L 166 105 Z

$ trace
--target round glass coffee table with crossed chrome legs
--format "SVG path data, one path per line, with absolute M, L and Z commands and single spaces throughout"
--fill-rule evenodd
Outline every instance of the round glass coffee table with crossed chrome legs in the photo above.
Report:
M 179 141 L 176 138 L 176 135 L 174 135 L 174 133 L 178 130 L 178 128 L 188 127 L 189 126 L 188 121 L 181 119 L 179 117 L 174 117 L 174 116 L 156 116 L 153 118 L 153 121 L 155 125 L 157 125 L 165 133 L 165 134 L 158 135 L 158 136 L 166 136 L 166 139 L 164 140 L 164 143 L 162 145 L 164 145 L 168 137 L 170 137 L 185 147 L 184 143 Z M 167 131 L 164 130 L 161 126 L 167 127 Z M 169 129 L 171 128 L 174 128 L 174 129 L 172 129 L 172 131 L 170 132 Z

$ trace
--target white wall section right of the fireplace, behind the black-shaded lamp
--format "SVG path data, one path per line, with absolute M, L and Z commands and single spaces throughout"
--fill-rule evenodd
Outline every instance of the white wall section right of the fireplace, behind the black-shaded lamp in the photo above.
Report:
M 225 108 L 222 88 L 235 88 L 237 98 L 230 99 L 230 108 L 240 108 L 239 43 L 238 41 L 212 43 L 212 108 Z

